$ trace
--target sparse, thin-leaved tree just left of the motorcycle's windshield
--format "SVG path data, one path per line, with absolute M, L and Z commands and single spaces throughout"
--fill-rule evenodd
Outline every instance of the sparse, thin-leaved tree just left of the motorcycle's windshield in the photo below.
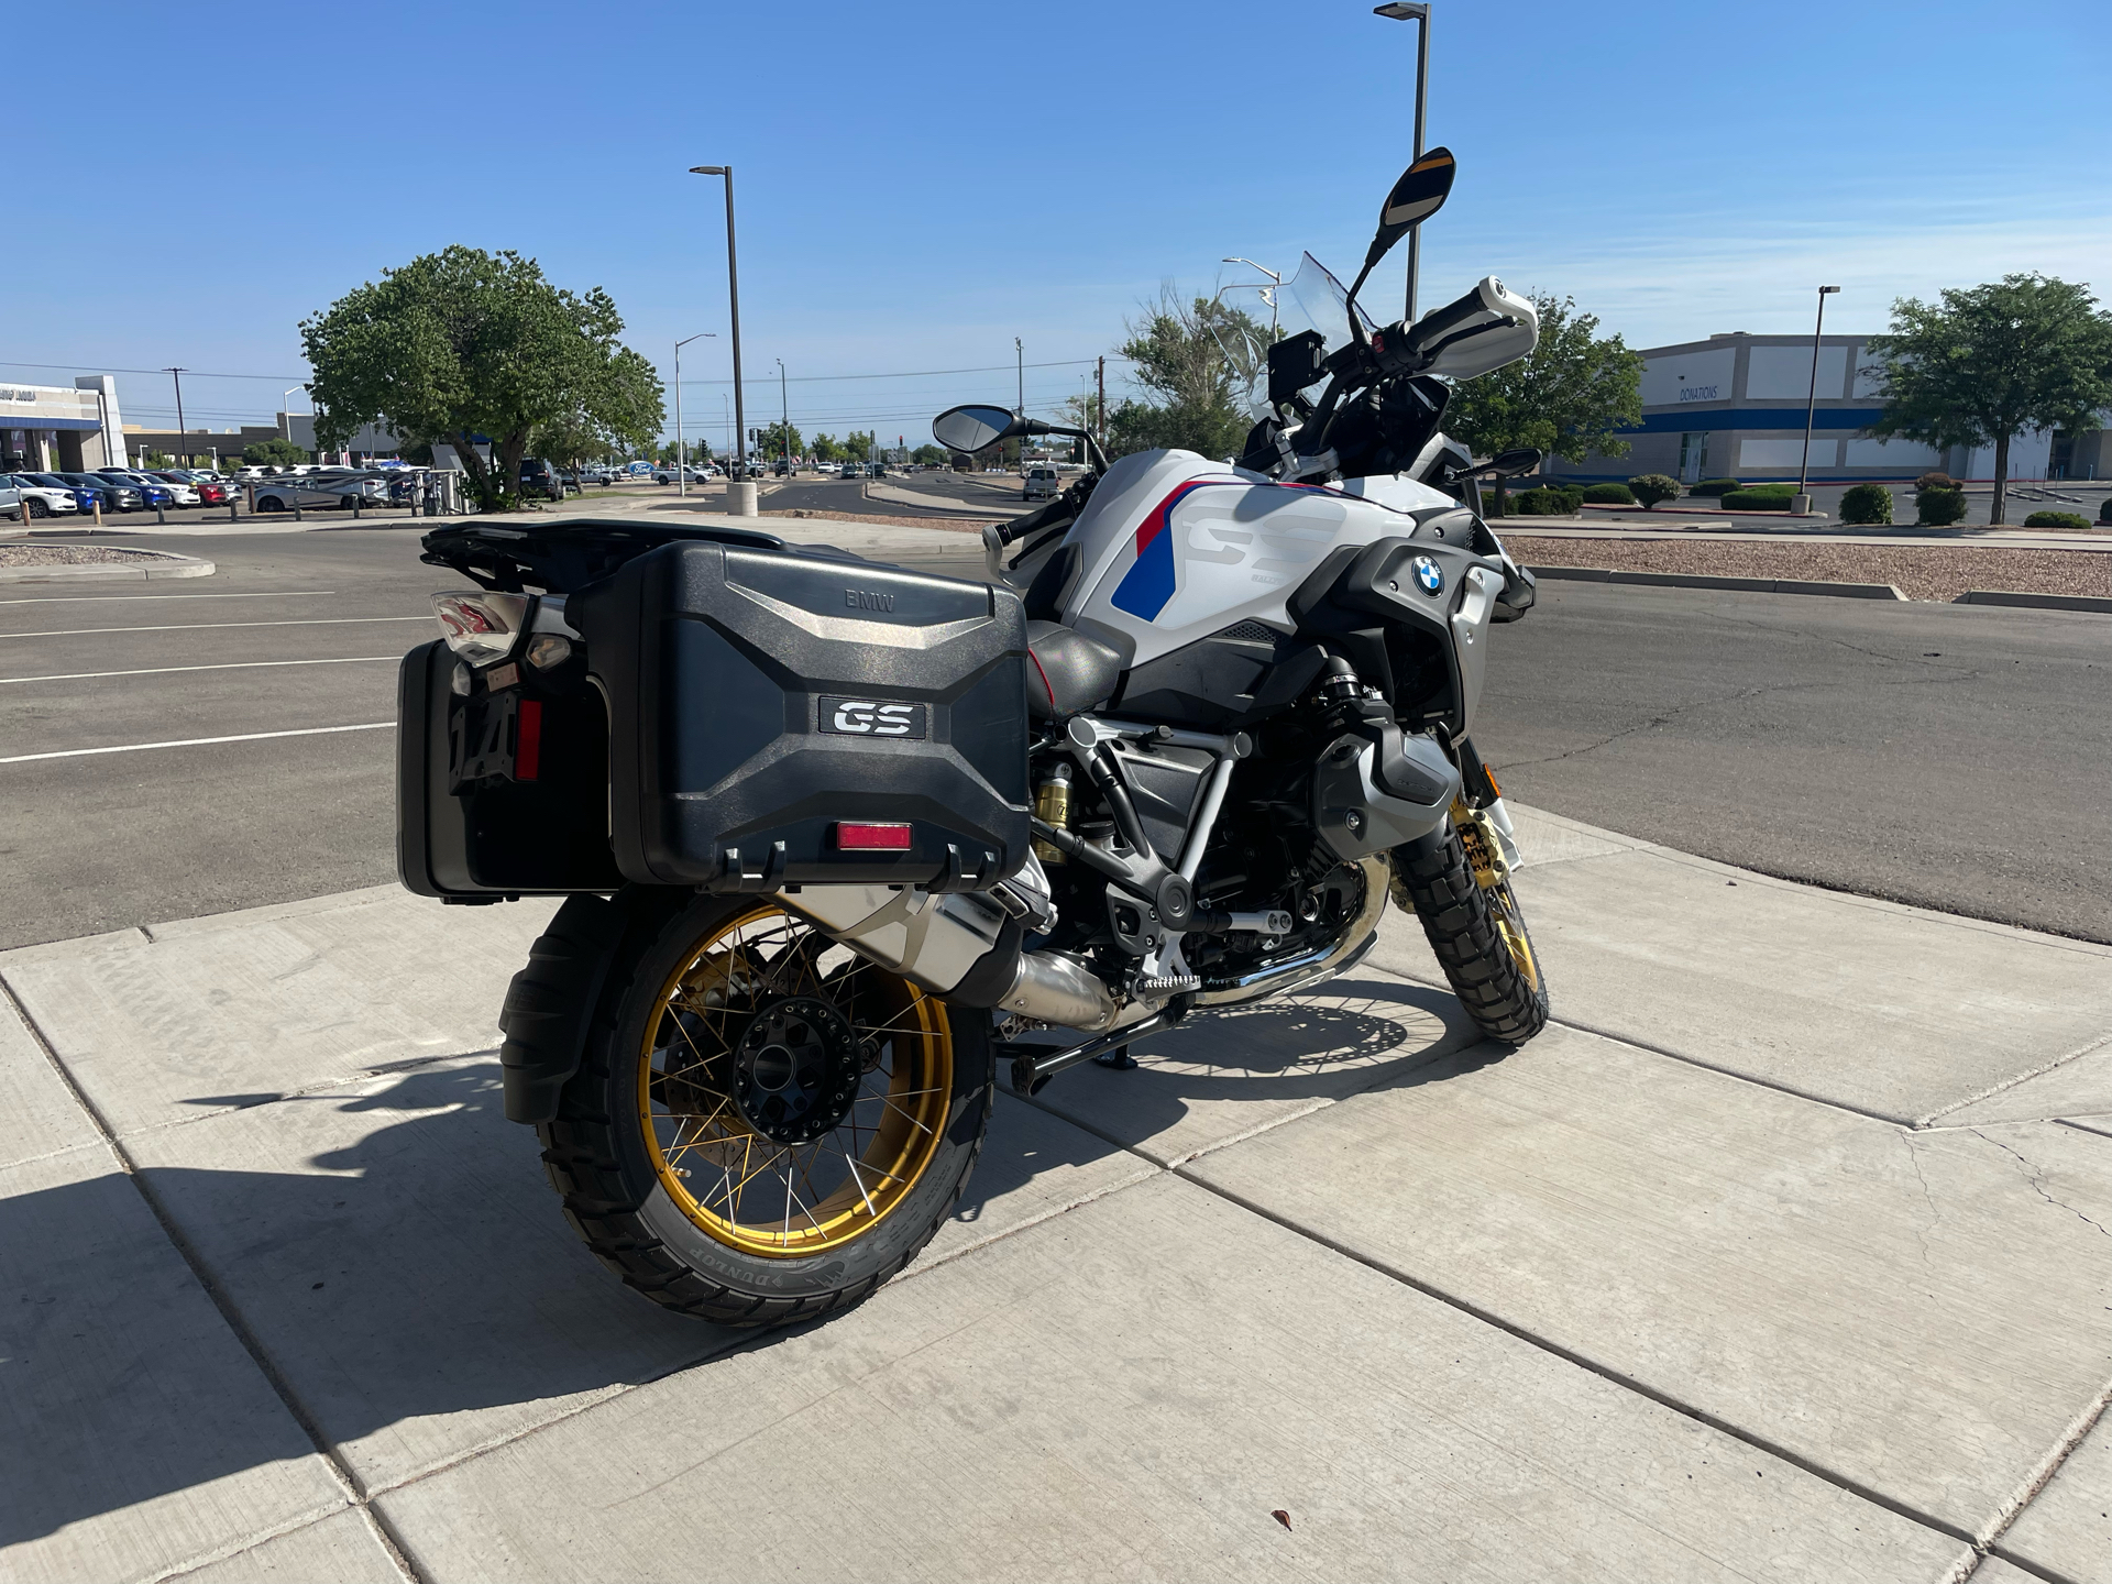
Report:
M 1250 420 L 1238 406 L 1246 382 L 1225 355 L 1225 342 L 1244 346 L 1255 334 L 1265 340 L 1265 332 L 1223 302 L 1195 298 L 1183 304 L 1170 285 L 1157 302 L 1145 304 L 1145 317 L 1132 319 L 1128 329 L 1121 357 L 1132 363 L 1130 380 L 1157 401 L 1132 397 L 1109 414 L 1109 454 L 1166 446 L 1236 456 Z

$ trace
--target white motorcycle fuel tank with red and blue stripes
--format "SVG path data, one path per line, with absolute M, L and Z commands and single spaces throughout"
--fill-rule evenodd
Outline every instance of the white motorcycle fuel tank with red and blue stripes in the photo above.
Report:
M 1409 534 L 1411 511 L 1449 505 L 1409 477 L 1276 484 L 1195 452 L 1134 452 L 1067 536 L 1081 574 L 1062 619 L 1124 634 L 1132 665 L 1238 621 L 1290 631 L 1284 602 L 1328 551 Z

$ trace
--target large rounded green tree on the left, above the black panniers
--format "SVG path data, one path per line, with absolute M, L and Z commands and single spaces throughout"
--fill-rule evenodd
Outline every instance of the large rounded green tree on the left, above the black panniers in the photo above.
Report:
M 365 422 L 446 439 L 484 509 L 509 509 L 539 429 L 577 425 L 640 448 L 659 433 L 659 374 L 617 344 L 621 329 L 606 291 L 564 291 L 532 258 L 425 253 L 302 321 L 317 441 L 342 446 Z M 492 467 L 479 435 L 492 441 Z

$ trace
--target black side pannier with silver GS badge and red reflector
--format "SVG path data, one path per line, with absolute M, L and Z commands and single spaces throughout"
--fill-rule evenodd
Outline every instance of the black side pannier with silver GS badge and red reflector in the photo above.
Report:
M 1010 589 L 676 543 L 566 617 L 608 701 L 608 828 L 629 879 L 969 891 L 1026 862 L 1026 619 Z

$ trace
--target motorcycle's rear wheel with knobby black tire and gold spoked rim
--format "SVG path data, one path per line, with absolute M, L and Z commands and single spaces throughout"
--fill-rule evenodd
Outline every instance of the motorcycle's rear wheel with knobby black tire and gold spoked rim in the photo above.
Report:
M 982 1149 L 991 1014 L 754 898 L 697 898 L 621 950 L 539 1130 L 600 1261 L 735 1326 L 819 1318 L 908 1265 Z

